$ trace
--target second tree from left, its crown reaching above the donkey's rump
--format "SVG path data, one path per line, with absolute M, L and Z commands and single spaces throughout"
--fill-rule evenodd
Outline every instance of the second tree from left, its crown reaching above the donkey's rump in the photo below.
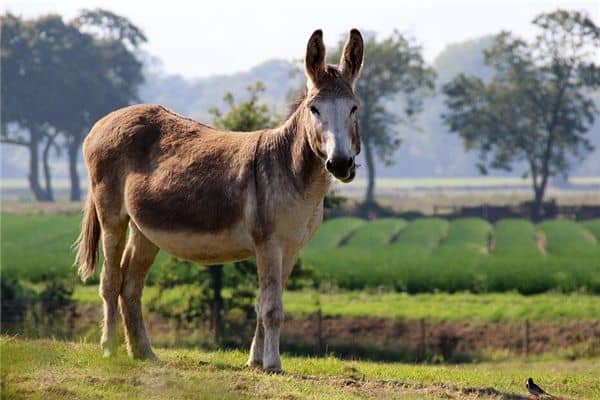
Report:
M 65 144 L 71 180 L 71 201 L 81 199 L 77 161 L 81 144 L 93 123 L 117 108 L 137 101 L 137 89 L 144 81 L 137 57 L 146 36 L 128 19 L 110 11 L 84 10 L 71 25 L 89 39 L 70 46 L 74 115 L 65 121 Z M 82 56 L 85 54 L 86 56 Z M 79 56 L 77 56 L 79 55 Z

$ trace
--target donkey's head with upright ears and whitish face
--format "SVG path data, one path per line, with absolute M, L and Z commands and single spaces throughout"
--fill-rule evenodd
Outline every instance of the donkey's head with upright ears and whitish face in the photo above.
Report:
M 354 179 L 354 158 L 360 153 L 354 82 L 362 60 L 363 39 L 356 29 L 350 31 L 338 66 L 325 63 L 321 30 L 308 40 L 304 62 L 307 92 L 300 105 L 304 107 L 308 141 L 327 171 L 342 182 Z

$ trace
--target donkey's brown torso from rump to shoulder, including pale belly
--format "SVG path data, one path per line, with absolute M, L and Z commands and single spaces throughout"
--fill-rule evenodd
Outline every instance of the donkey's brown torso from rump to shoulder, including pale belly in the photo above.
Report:
M 109 114 L 84 144 L 100 220 L 131 220 L 181 258 L 218 263 L 250 256 L 242 228 L 251 222 L 245 205 L 258 135 L 219 131 L 158 105 Z

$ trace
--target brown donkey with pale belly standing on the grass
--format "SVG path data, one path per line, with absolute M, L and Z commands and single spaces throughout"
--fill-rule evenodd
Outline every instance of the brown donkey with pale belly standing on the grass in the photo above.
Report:
M 105 356 L 116 351 L 119 303 L 129 355 L 156 359 L 140 300 L 159 249 L 205 265 L 256 256 L 260 290 L 247 365 L 281 370 L 283 288 L 322 221 L 331 177 L 350 182 L 356 173 L 353 87 L 363 47 L 353 29 L 339 66 L 328 65 L 323 33 L 315 31 L 305 95 L 275 129 L 220 131 L 150 104 L 96 122 L 83 144 L 90 189 L 76 264 L 85 281 L 101 237 Z

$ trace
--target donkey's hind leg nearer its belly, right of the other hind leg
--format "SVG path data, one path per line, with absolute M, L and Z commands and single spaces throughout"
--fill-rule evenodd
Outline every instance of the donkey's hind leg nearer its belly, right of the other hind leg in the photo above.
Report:
M 130 236 L 123 257 L 123 285 L 121 288 L 121 315 L 125 325 L 127 351 L 137 359 L 156 360 L 144 327 L 142 315 L 142 291 L 148 270 L 158 253 L 158 247 L 150 242 L 130 222 Z

